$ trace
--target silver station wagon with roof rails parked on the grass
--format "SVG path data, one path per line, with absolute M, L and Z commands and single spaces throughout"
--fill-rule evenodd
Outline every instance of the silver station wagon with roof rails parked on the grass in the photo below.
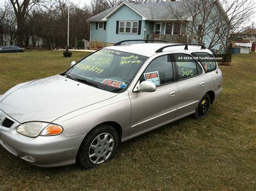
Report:
M 120 142 L 205 117 L 223 80 L 210 50 L 126 41 L 1 95 L 0 144 L 36 166 L 91 168 L 111 160 Z

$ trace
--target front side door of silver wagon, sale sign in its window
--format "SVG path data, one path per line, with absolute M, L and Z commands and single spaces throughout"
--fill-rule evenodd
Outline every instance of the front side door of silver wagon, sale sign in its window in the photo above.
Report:
M 131 100 L 130 136 L 157 127 L 176 117 L 178 86 L 174 82 L 173 65 L 170 55 L 154 59 L 145 69 L 139 82 L 152 81 L 154 92 L 133 92 L 129 90 Z

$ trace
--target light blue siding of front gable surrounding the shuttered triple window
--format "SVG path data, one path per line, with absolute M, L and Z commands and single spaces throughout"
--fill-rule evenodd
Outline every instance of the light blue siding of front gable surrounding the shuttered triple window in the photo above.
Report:
M 142 28 L 140 35 L 136 34 L 116 34 L 116 25 L 117 21 L 141 21 L 142 16 L 138 13 L 133 11 L 126 5 L 123 5 L 122 8 L 117 10 L 113 15 L 107 18 L 107 43 L 117 43 L 121 40 L 128 40 L 128 39 L 144 39 L 144 28 L 145 28 L 145 21 L 142 21 Z

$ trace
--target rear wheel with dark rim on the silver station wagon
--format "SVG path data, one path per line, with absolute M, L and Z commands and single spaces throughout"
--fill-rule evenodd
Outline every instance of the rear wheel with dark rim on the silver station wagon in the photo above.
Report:
M 205 94 L 204 97 L 199 101 L 199 104 L 196 109 L 196 113 L 193 114 L 193 117 L 196 119 L 203 119 L 208 113 L 210 108 L 211 99 L 208 94 Z

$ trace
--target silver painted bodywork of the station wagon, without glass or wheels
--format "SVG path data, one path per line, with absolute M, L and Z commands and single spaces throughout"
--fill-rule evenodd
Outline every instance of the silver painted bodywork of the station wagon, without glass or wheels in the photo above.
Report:
M 11 88 L 0 97 L 0 144 L 36 166 L 69 165 L 76 162 L 79 146 L 86 134 L 99 124 L 111 122 L 120 126 L 121 141 L 126 141 L 193 114 L 199 100 L 208 91 L 213 91 L 214 101 L 217 100 L 223 80 L 218 67 L 212 72 L 203 70 L 199 76 L 159 86 L 154 92 L 133 91 L 147 65 L 159 56 L 176 52 L 212 54 L 210 50 L 192 46 L 189 50 L 177 51 L 177 47 L 170 47 L 161 53 L 154 52 L 164 45 L 107 47 L 149 57 L 123 93 L 103 91 L 60 75 Z M 14 125 L 3 127 L 4 118 L 13 120 Z M 52 122 L 62 126 L 64 131 L 52 137 L 29 138 L 18 134 L 16 128 L 28 121 Z

